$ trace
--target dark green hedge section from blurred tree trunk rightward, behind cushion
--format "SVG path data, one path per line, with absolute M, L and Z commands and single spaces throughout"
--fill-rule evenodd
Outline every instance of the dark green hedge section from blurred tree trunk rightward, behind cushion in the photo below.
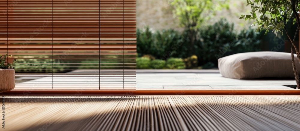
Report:
M 261 35 L 249 28 L 239 33 L 234 31 L 234 24 L 226 19 L 213 25 L 203 27 L 199 31 L 197 55 L 199 65 L 208 62 L 217 65 L 218 58 L 228 55 L 260 51 Z M 211 64 L 210 64 L 211 65 Z

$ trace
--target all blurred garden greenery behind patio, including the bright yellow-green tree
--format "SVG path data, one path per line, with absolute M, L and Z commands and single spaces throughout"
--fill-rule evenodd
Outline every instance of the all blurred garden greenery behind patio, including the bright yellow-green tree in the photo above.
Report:
M 264 35 L 265 31 L 256 32 L 256 27 L 251 27 L 250 21 L 242 29 L 236 29 L 244 20 L 239 20 L 240 16 L 232 13 L 250 11 L 251 8 L 247 9 L 246 4 L 246 1 L 235 0 L 169 0 L 169 9 L 178 21 L 177 26 L 183 30 L 153 30 L 148 26 L 137 29 L 137 56 L 150 55 L 156 60 L 165 61 L 162 69 L 176 69 L 168 65 L 168 60 L 174 58 L 178 59 L 176 64 L 181 62 L 179 59 L 184 63 L 180 68 L 211 69 L 217 68 L 218 58 L 236 53 L 290 52 L 290 48 L 285 48 L 290 47 L 285 35 L 275 37 L 272 33 Z M 294 33 L 296 27 L 287 25 L 291 25 L 286 27 L 290 34 Z M 153 24 L 151 26 L 156 27 Z M 140 62 L 137 61 L 137 69 L 140 69 Z M 158 64 L 160 68 L 164 65 L 160 64 L 164 62 L 157 61 L 148 63 L 151 64 L 149 69 L 155 69 L 153 67 Z

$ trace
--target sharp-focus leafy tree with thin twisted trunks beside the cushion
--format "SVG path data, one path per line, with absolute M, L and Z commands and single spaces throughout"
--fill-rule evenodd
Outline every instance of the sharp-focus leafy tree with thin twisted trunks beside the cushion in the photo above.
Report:
M 300 78 L 295 67 L 294 52 L 295 48 L 297 58 L 300 61 L 300 53 L 295 45 L 295 38 L 300 29 L 299 19 L 299 0 L 247 0 L 247 6 L 251 5 L 251 12 L 248 15 L 241 15 L 240 19 L 254 19 L 253 25 L 258 26 L 257 31 L 272 30 L 274 33 L 285 32 L 292 43 L 292 66 L 294 69 L 295 79 L 297 82 L 297 89 L 300 89 Z M 259 14 L 259 15 L 257 15 Z M 289 20 L 293 20 L 293 24 L 297 24 L 295 34 L 288 34 L 286 25 Z M 294 38 L 292 39 L 292 36 Z

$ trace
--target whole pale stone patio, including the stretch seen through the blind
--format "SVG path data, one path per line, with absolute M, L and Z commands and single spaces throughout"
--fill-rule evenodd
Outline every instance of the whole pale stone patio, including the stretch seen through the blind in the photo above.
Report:
M 95 70 L 97 72 L 99 70 Z M 55 76 L 53 82 L 52 76 L 21 77 L 18 79 L 32 80 L 16 84 L 15 89 L 99 89 L 99 74 L 80 76 L 73 75 L 74 73 L 68 72 L 64 75 L 70 76 L 69 79 Z M 291 85 L 294 88 L 296 85 L 293 79 L 230 79 L 223 77 L 219 70 L 137 70 L 136 81 L 137 89 L 293 89 L 290 88 Z

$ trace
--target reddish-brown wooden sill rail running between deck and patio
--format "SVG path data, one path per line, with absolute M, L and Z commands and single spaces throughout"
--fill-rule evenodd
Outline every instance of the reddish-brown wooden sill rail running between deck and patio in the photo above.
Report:
M 297 89 L 199 89 L 199 90 L 11 90 L 4 96 L 143 96 L 143 95 L 300 95 Z

